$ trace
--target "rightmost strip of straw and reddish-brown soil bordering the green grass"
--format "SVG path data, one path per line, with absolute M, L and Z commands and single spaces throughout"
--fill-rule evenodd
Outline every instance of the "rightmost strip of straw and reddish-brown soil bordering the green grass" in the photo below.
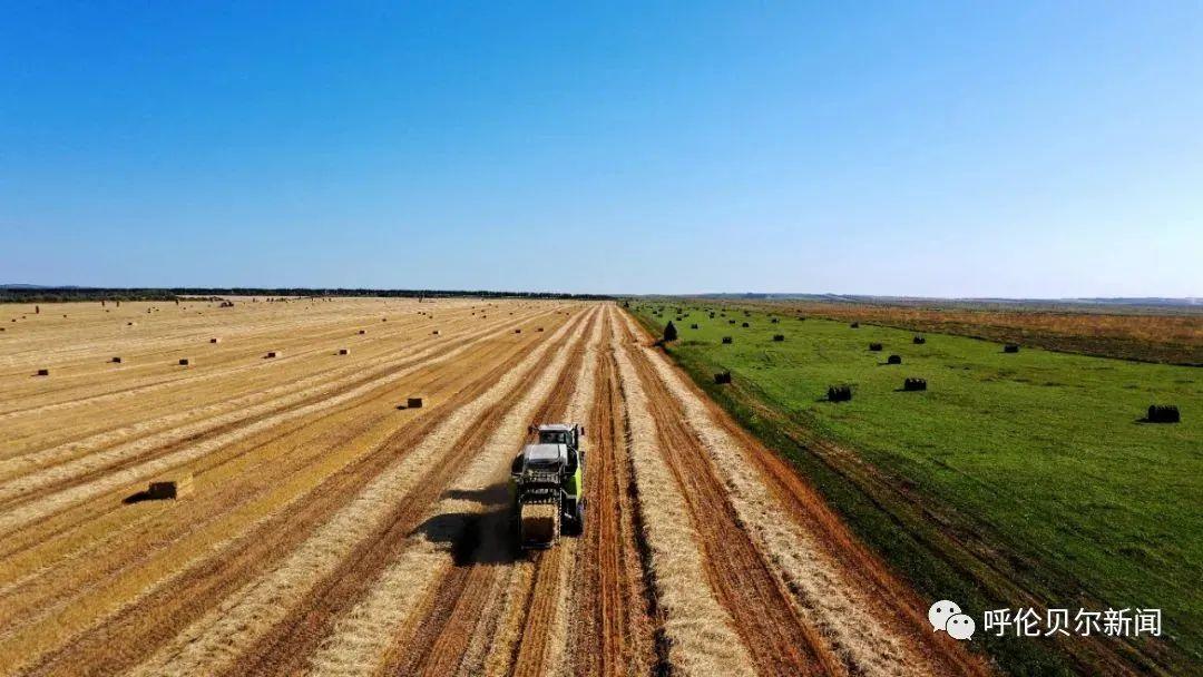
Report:
M 641 333 L 629 316 L 624 315 L 624 321 L 628 331 Z M 795 473 L 749 435 L 736 432 L 734 423 L 662 354 L 650 348 L 642 352 L 709 451 L 740 521 L 768 556 L 778 581 L 794 594 L 801 613 L 819 628 L 849 672 L 986 673 L 980 660 L 947 636 L 930 633 L 919 605 L 903 611 L 878 602 L 905 598 L 905 588 L 883 577 L 879 566 L 848 566 L 846 563 L 858 550 L 851 534 L 836 550 L 825 547 L 830 540 L 813 533 L 825 512 L 814 504 L 818 497 L 800 491 Z M 824 530 L 837 528 L 843 527 L 828 522 Z M 859 559 L 858 564 L 866 563 Z

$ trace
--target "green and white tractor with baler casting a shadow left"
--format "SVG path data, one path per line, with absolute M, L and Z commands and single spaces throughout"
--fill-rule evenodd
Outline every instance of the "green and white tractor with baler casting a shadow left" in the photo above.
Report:
M 537 441 L 510 465 L 510 498 L 518 545 L 550 548 L 561 534 L 585 530 L 585 428 L 575 423 L 532 426 Z

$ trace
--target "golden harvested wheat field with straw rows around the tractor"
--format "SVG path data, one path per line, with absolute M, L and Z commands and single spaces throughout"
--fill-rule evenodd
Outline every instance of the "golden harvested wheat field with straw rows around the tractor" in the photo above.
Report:
M 614 304 L 0 321 L 0 673 L 989 672 Z M 510 461 L 553 421 L 585 530 L 522 552 Z

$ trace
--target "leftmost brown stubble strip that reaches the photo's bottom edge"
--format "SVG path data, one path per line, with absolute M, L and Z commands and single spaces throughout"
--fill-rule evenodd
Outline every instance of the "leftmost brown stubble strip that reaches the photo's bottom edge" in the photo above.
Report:
M 397 451 L 405 452 L 437 428 L 443 410 L 456 410 L 472 403 L 493 387 L 512 369 L 512 363 L 499 364 L 484 372 L 468 387 L 462 388 L 445 405 L 428 410 L 417 427 L 403 428 L 352 463 L 328 476 L 304 500 L 297 497 L 296 509 L 277 512 L 236 539 L 231 546 L 202 557 L 182 575 L 161 582 L 159 588 L 137 606 L 126 606 L 94 631 L 72 642 L 59 655 L 43 661 L 45 666 L 70 665 L 71 673 L 113 673 L 125 671 L 143 659 L 162 641 L 209 612 L 217 602 L 238 589 L 251 576 L 271 566 L 308 538 L 322 521 L 344 507 L 351 497 L 374 480 L 385 468 L 396 463 Z M 220 556 L 220 557 L 219 557 Z M 161 618 L 155 617 L 155 612 Z M 112 647 L 117 647 L 114 651 Z

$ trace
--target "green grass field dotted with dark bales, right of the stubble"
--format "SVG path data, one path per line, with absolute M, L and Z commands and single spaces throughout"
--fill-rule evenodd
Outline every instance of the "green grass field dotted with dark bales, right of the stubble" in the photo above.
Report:
M 665 309 L 660 317 L 652 316 L 657 307 Z M 645 303 L 635 314 L 659 328 L 675 317 L 672 308 Z M 1027 606 L 1015 596 L 1029 594 L 1074 611 L 1161 608 L 1168 641 L 1106 646 L 1104 653 L 1115 649 L 1145 669 L 1198 665 L 1198 368 L 1026 346 L 1005 354 L 997 343 L 944 334 L 915 345 L 913 332 L 865 323 L 727 315 L 689 311 L 674 322 L 680 339 L 670 352 L 795 461 L 920 593 L 1009 607 Z M 740 327 L 743 321 L 751 327 Z M 772 342 L 777 333 L 784 342 Z M 724 335 L 734 343 L 722 345 Z M 883 351 L 871 352 L 870 342 Z M 889 355 L 902 364 L 887 366 Z M 731 372 L 733 386 L 712 382 L 721 369 Z M 903 392 L 907 376 L 926 379 L 929 390 Z M 832 384 L 852 385 L 853 399 L 826 402 Z M 1140 422 L 1152 403 L 1177 404 L 1183 422 Z M 988 640 L 982 648 L 1012 672 L 1101 665 L 1097 646 L 1074 641 Z M 1077 655 L 1066 659 L 1067 652 Z

